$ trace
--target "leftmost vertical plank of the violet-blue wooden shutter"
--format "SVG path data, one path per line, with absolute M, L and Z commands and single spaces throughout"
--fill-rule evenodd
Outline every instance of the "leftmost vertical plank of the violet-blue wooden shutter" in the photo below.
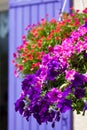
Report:
M 11 9 L 9 12 L 9 82 L 8 82 L 8 130 L 13 130 L 14 127 L 16 127 L 16 117 L 15 117 L 15 110 L 14 110 L 14 102 L 15 102 L 15 77 L 14 77 L 14 67 L 12 65 L 12 56 L 13 51 L 15 51 L 15 10 Z

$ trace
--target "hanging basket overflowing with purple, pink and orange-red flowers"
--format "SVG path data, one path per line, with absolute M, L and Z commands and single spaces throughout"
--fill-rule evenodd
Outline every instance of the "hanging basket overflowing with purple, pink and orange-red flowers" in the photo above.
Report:
M 67 110 L 87 109 L 87 8 L 61 19 L 28 26 L 13 60 L 23 78 L 15 110 L 52 126 Z

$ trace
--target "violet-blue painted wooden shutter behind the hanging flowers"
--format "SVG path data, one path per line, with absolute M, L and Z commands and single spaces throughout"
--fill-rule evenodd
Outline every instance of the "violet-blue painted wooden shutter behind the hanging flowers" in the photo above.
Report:
M 14 66 L 12 65 L 13 53 L 17 46 L 22 43 L 22 35 L 28 24 L 36 24 L 46 14 L 48 20 L 52 17 L 58 19 L 58 14 L 63 6 L 64 0 L 10 0 L 9 2 L 9 104 L 8 104 L 8 130 L 71 130 L 71 112 L 63 114 L 54 129 L 48 125 L 39 126 L 35 119 L 27 122 L 14 110 L 14 102 L 21 92 L 21 79 L 15 78 Z M 70 0 L 67 0 L 65 10 L 69 12 Z

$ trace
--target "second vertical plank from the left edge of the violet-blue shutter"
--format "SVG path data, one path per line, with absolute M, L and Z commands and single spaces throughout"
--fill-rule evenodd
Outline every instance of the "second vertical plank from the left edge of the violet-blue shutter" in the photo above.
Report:
M 21 8 L 15 8 L 16 11 L 16 16 L 15 16 L 15 23 L 16 23 L 16 37 L 15 37 L 15 42 L 16 42 L 16 48 L 22 44 L 21 37 L 22 37 L 22 9 Z M 21 93 L 21 87 L 20 87 L 20 81 L 19 78 L 16 79 L 16 100 L 19 97 Z M 21 124 L 21 116 L 19 113 L 16 113 L 16 130 L 22 129 L 22 124 Z

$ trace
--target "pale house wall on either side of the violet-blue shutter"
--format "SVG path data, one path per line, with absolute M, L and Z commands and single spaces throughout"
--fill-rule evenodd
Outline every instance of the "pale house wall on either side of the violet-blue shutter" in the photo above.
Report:
M 74 8 L 82 10 L 81 0 L 74 0 Z M 87 7 L 87 0 L 83 0 L 83 6 Z M 0 0 L 0 11 L 8 9 L 8 0 Z M 85 116 L 77 115 L 76 112 L 73 113 L 74 130 L 87 130 L 87 112 Z

